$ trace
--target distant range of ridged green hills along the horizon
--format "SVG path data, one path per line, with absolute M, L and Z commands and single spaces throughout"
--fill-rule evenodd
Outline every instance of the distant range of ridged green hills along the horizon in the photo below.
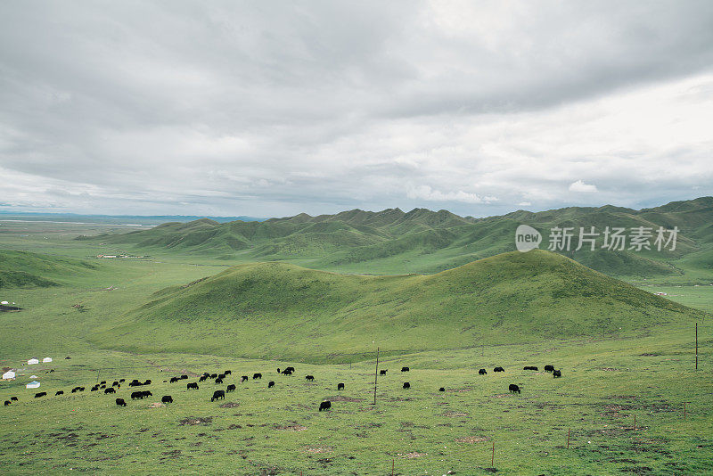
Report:
M 128 234 L 101 234 L 78 239 L 133 245 L 150 253 L 170 252 L 239 261 L 291 260 L 316 269 L 354 273 L 437 273 L 475 259 L 515 249 L 517 226 L 534 226 L 548 246 L 550 230 L 571 227 L 571 259 L 607 275 L 627 278 L 669 276 L 674 280 L 709 279 L 713 259 L 713 197 L 671 202 L 653 209 L 570 207 L 538 213 L 515 211 L 504 216 L 458 217 L 447 210 L 359 209 L 336 215 L 271 218 L 264 222 L 217 223 L 202 218 L 167 223 Z M 607 226 L 671 229 L 679 234 L 676 250 L 579 250 L 580 227 Z M 669 247 L 670 248 L 670 247 Z M 558 251 L 559 252 L 559 251 Z

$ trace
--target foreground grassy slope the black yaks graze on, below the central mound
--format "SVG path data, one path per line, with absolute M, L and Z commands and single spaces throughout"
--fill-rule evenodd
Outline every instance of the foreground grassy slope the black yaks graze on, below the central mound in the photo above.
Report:
M 710 324 L 700 325 L 710 335 Z M 713 472 L 711 340 L 699 371 L 687 328 L 668 340 L 545 341 L 387 357 L 373 405 L 374 360 L 307 365 L 205 355 L 86 351 L 52 365 L 20 367 L 0 382 L 3 474 L 706 474 Z M 541 372 L 561 368 L 561 379 Z M 294 365 L 294 376 L 276 367 Z M 400 373 L 403 365 L 411 368 Z M 503 365 L 505 373 L 493 373 Z M 540 372 L 521 370 L 538 365 Z M 479 376 L 485 367 L 488 375 Z M 50 368 L 54 373 L 45 374 Z M 232 370 L 225 383 L 193 375 Z M 242 374 L 263 373 L 241 383 Z M 32 398 L 27 376 L 41 376 Z M 170 376 L 190 373 L 178 383 Z M 315 382 L 305 375 L 313 374 Z M 152 379 L 117 396 L 89 392 L 98 380 Z M 267 389 L 267 382 L 276 382 Z M 337 391 L 338 382 L 346 389 Z M 403 390 L 403 382 L 411 389 Z M 213 390 L 235 383 L 225 400 Z M 521 394 L 508 392 L 520 385 Z M 86 391 L 70 394 L 72 387 Z M 126 384 L 125 384 L 126 385 Z M 445 387 L 439 392 L 438 387 Z M 65 395 L 54 397 L 56 390 Z M 152 398 L 130 399 L 151 390 Z M 152 407 L 163 395 L 174 403 Z M 323 399 L 332 409 L 318 412 Z M 686 415 L 684 418 L 684 402 Z M 635 420 L 635 422 L 634 422 Z M 567 447 L 568 431 L 570 447 Z M 493 445 L 495 454 L 493 455 Z M 493 464 L 491 464 L 493 458 Z

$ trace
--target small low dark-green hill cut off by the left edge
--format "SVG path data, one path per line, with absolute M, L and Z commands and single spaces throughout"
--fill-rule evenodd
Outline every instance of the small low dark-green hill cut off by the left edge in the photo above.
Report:
M 0 288 L 57 286 L 95 267 L 79 259 L 0 250 Z

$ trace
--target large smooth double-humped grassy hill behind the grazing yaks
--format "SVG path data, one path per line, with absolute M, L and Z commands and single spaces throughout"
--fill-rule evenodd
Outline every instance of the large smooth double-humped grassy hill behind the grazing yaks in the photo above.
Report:
M 158 291 L 99 345 L 136 352 L 348 361 L 651 329 L 698 311 L 544 250 L 436 275 L 338 275 L 253 263 Z

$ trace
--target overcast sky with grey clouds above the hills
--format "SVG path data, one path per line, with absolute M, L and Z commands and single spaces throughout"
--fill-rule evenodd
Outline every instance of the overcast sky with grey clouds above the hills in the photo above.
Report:
M 713 194 L 713 2 L 0 3 L 0 210 Z

